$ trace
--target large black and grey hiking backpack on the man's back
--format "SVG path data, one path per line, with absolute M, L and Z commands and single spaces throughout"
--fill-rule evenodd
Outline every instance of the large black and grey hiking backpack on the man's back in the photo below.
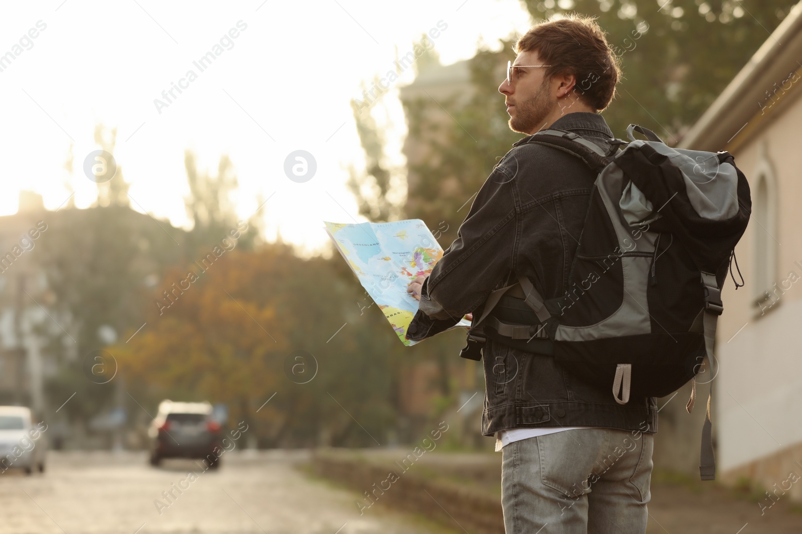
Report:
M 647 140 L 635 139 L 634 131 Z M 565 151 L 597 172 L 567 287 L 559 298 L 543 299 L 519 275 L 517 284 L 493 291 L 461 355 L 479 359 L 487 337 L 503 336 L 512 346 L 552 354 L 580 379 L 611 387 L 618 404 L 630 395 L 669 395 L 691 380 L 690 413 L 703 359 L 711 372 L 715 361 L 720 288 L 747 227 L 749 185 L 725 151 L 671 148 L 634 124 L 627 135 L 630 142 L 613 139 L 609 152 L 562 130 L 525 141 Z M 537 320 L 505 322 L 491 313 L 516 292 Z M 702 480 L 715 480 L 708 382 L 699 471 Z

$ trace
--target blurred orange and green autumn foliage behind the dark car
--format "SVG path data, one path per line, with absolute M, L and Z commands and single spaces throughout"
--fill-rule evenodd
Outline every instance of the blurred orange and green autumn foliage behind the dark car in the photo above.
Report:
M 187 270 L 196 281 L 173 286 Z M 144 408 L 225 403 L 263 447 L 386 444 L 411 355 L 378 307 L 360 310 L 361 294 L 338 257 L 301 259 L 282 243 L 225 252 L 165 275 L 147 325 L 109 351 Z

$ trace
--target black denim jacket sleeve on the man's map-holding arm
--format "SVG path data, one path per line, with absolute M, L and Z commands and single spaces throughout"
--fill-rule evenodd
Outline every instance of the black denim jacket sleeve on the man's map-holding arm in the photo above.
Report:
M 485 181 L 457 238 L 423 284 L 419 312 L 456 323 L 484 303 L 512 271 L 516 237 L 512 179 L 514 175 L 500 166 Z

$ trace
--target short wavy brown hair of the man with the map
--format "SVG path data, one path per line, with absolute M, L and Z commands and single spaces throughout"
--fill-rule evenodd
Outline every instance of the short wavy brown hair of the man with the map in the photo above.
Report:
M 545 79 L 566 72 L 573 74 L 577 78 L 577 96 L 594 110 L 605 109 L 615 96 L 615 84 L 621 78 L 618 56 L 594 18 L 549 18 L 518 39 L 515 51 L 537 51 L 543 64 L 551 65 L 545 70 Z

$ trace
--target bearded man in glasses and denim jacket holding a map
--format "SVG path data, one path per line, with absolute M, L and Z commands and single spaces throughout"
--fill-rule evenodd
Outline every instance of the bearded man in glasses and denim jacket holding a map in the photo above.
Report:
M 613 99 L 620 70 L 597 23 L 542 22 L 520 38 L 516 54 L 499 86 L 509 127 L 527 135 L 567 130 L 609 151 L 614 135 L 598 113 Z M 479 319 L 491 291 L 518 275 L 544 299 L 565 294 L 595 174 L 573 155 L 527 139 L 488 177 L 431 276 L 407 289 L 420 299 L 409 339 L 444 331 L 469 312 Z M 504 343 L 492 328 L 485 333 L 482 433 L 495 435 L 502 451 L 506 532 L 646 532 L 654 398 L 619 405 L 547 350 Z

